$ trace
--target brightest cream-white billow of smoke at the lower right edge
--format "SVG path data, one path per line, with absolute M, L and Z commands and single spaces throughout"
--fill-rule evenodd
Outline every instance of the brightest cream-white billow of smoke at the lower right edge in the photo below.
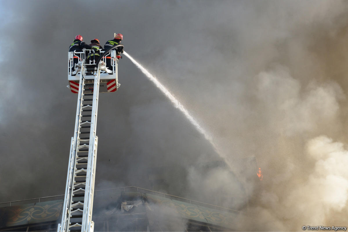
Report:
M 295 207 L 302 214 L 304 224 L 333 223 L 331 214 L 346 217 L 348 151 L 344 144 L 318 136 L 307 143 L 307 154 L 315 160 L 313 173 L 290 192 L 285 206 Z

